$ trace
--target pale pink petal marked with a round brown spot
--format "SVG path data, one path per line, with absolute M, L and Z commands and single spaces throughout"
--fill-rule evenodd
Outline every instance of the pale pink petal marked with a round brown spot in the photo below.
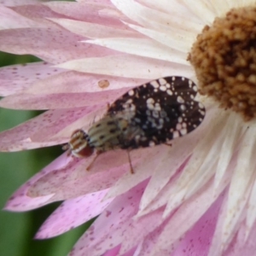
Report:
M 1 73 L 0 73 L 1 74 Z M 102 81 L 106 81 L 108 87 L 101 87 Z M 66 71 L 56 74 L 48 79 L 42 79 L 33 83 L 27 88 L 28 94 L 51 94 L 51 93 L 83 93 L 96 92 L 104 90 L 116 90 L 143 84 L 148 79 L 125 79 L 106 75 L 95 75 L 90 73 L 79 73 L 75 71 Z M 76 84 L 75 86 L 73 86 Z M 0 87 L 1 88 L 1 87 Z

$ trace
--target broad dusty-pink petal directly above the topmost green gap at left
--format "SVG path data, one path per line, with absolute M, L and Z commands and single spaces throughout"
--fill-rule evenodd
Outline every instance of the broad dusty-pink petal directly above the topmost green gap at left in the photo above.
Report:
M 17 41 L 16 38 L 19 38 Z M 79 37 L 64 29 L 20 28 L 0 31 L 2 51 L 17 55 L 31 54 L 51 63 L 61 63 L 94 55 L 108 55 L 111 49 L 84 44 Z

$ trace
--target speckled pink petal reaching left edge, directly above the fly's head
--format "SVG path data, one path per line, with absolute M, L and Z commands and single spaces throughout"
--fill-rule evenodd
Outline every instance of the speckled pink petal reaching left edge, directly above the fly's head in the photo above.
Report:
M 102 109 L 102 106 L 49 110 L 15 128 L 1 132 L 0 149 L 17 151 L 66 143 L 74 130 L 88 125 L 95 117 L 97 109 Z M 79 125 L 78 120 L 86 118 L 87 122 L 83 121 L 83 125 Z M 71 125 L 75 121 L 79 126 Z M 68 125 L 70 127 L 67 129 L 66 137 L 63 134 L 58 137 L 57 133 Z

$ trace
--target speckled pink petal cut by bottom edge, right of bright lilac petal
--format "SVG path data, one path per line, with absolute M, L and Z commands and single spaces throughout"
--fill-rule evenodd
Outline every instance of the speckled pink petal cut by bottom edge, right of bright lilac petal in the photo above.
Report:
M 132 216 L 137 212 L 147 183 L 148 181 L 140 183 L 129 192 L 114 199 L 79 239 L 70 255 L 101 255 L 118 246 L 123 240 L 125 230 L 128 230 L 131 224 Z

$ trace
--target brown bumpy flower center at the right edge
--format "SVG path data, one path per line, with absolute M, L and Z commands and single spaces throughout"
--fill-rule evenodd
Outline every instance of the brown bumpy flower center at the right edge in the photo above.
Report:
M 223 108 L 256 117 L 256 8 L 231 9 L 205 26 L 188 60 L 195 67 L 200 93 Z

